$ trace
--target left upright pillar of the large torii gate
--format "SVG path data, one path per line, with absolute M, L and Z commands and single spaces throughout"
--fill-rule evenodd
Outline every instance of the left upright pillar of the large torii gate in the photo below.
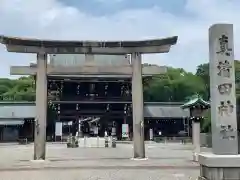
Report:
M 47 54 L 37 54 L 34 160 L 44 160 L 47 119 Z

